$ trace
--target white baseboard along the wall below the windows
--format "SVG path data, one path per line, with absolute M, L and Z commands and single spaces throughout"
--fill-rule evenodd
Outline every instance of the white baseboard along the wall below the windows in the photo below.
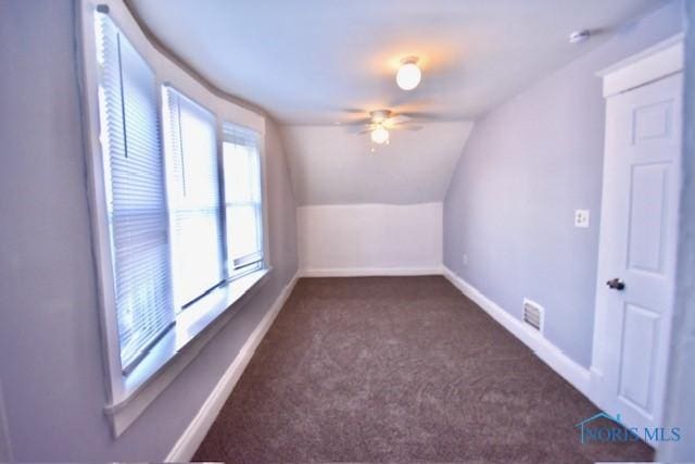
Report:
M 169 451 L 165 462 L 189 462 L 191 457 L 193 457 L 195 450 L 198 450 L 198 447 L 200 447 L 205 435 L 207 435 L 207 430 L 210 430 L 210 427 L 213 425 L 217 414 L 219 414 L 222 406 L 227 401 L 227 398 L 233 390 L 237 381 L 239 381 L 241 374 L 247 368 L 247 365 L 263 340 L 263 337 L 265 337 L 266 333 L 273 325 L 273 322 L 280 313 L 280 310 L 285 305 L 290 293 L 292 293 L 298 278 L 299 272 L 282 289 L 266 315 L 261 319 L 261 323 L 249 336 L 247 342 L 241 347 L 241 350 L 239 350 L 237 358 L 235 358 L 229 367 L 227 367 L 227 371 L 210 393 L 198 414 L 195 414 L 193 421 L 191 421 L 184 434 L 174 444 L 174 448 L 172 448 L 172 451 Z

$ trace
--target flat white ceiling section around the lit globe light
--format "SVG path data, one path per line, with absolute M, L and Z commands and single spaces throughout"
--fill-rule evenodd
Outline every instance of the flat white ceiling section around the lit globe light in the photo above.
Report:
M 660 0 L 126 0 L 208 80 L 283 124 L 389 108 L 475 120 Z M 581 45 L 576 29 L 594 30 Z M 420 57 L 401 91 L 399 60 Z

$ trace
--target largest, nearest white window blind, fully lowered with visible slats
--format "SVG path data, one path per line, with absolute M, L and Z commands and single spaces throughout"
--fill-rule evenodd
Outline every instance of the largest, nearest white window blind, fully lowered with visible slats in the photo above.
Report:
M 99 110 L 124 373 L 174 324 L 164 161 L 154 73 L 96 15 Z

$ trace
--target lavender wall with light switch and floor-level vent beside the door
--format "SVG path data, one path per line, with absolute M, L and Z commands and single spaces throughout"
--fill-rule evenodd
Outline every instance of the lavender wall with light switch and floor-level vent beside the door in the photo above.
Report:
M 516 317 L 525 297 L 541 303 L 545 336 L 584 366 L 604 148 L 594 74 L 681 22 L 681 2 L 669 2 L 477 121 L 444 203 L 445 265 Z M 591 210 L 589 229 L 573 227 L 576 209 Z

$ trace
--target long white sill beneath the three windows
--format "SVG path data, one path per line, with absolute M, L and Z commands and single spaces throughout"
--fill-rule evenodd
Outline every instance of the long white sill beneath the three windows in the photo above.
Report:
M 114 437 L 118 437 L 184 371 L 225 323 L 268 279 L 271 268 L 255 271 L 215 290 L 187 308 L 176 325 L 152 348 L 138 366 L 122 377 L 124 398 L 104 409 Z

